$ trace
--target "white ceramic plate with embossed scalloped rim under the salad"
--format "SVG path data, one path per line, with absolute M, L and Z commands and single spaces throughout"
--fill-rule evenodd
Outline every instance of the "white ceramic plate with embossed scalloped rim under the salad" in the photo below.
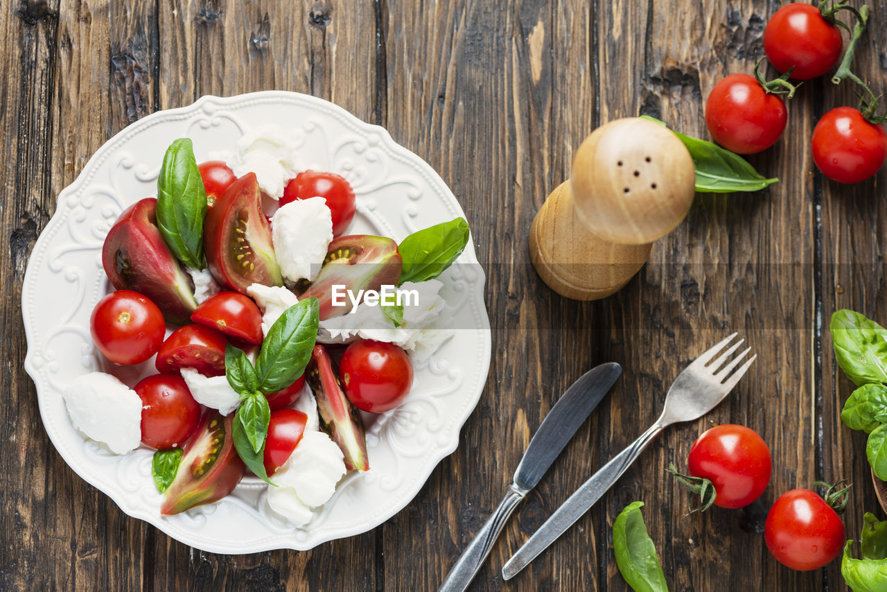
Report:
M 334 497 L 302 528 L 268 509 L 257 478 L 244 479 L 222 501 L 161 517 L 161 496 L 151 478 L 152 452 L 139 448 L 117 456 L 75 431 L 61 391 L 74 376 L 107 369 L 90 339 L 89 319 L 109 288 L 101 265 L 108 229 L 122 209 L 156 194 L 161 160 L 173 139 L 192 138 L 198 162 L 224 159 L 245 130 L 268 124 L 292 130 L 306 169 L 331 170 L 349 179 L 358 207 L 351 233 L 400 241 L 415 230 L 465 215 L 427 162 L 397 145 L 386 130 L 341 107 L 283 91 L 203 97 L 190 107 L 149 115 L 98 149 L 59 194 L 56 213 L 27 264 L 22 291 L 25 368 L 59 454 L 130 516 L 216 553 L 311 549 L 380 525 L 403 509 L 436 464 L 456 449 L 459 429 L 480 398 L 490 365 L 484 276 L 469 242 L 459 264 L 441 277 L 442 295 L 454 313 L 454 337 L 427 366 L 416 368 L 415 386 L 404 404 L 367 426 L 372 469 L 343 478 Z M 115 370 L 130 385 L 145 372 L 144 367 Z

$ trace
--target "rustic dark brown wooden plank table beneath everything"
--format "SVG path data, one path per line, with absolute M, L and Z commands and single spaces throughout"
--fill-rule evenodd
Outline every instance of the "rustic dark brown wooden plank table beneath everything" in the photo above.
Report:
M 530 265 L 527 233 L 573 150 L 601 122 L 653 114 L 707 137 L 703 99 L 751 72 L 778 3 L 751 0 L 16 0 L 0 8 L 0 249 L 5 404 L 0 406 L 2 589 L 433 590 L 498 503 L 562 391 L 613 360 L 624 376 L 506 527 L 475 590 L 624 590 L 611 525 L 634 500 L 672 590 L 843 590 L 840 562 L 791 572 L 765 549 L 766 508 L 814 479 L 854 486 L 848 538 L 877 508 L 865 436 L 838 419 L 851 384 L 828 319 L 882 322 L 887 172 L 841 186 L 815 169 L 812 127 L 855 104 L 847 85 L 805 83 L 789 132 L 751 159 L 781 183 L 697 196 L 616 296 L 556 296 Z M 887 89 L 887 1 L 856 71 Z M 874 40 L 880 42 L 875 43 Z M 391 135 L 451 186 L 488 273 L 493 359 L 483 398 L 415 500 L 373 532 L 310 552 L 218 556 L 127 517 L 50 445 L 22 363 L 21 281 L 56 195 L 130 122 L 204 94 L 282 89 L 330 99 Z M 738 330 L 758 353 L 727 401 L 665 432 L 594 509 L 515 580 L 499 570 L 561 501 L 655 420 L 690 359 Z M 664 471 L 716 423 L 757 430 L 773 451 L 762 502 L 686 517 Z

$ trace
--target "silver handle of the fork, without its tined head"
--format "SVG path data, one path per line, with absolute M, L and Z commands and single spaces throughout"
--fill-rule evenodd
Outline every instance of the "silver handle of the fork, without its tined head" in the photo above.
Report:
M 547 549 L 562 533 L 566 532 L 596 501 L 600 500 L 604 493 L 607 493 L 607 490 L 616 483 L 618 478 L 622 477 L 625 470 L 632 466 L 632 462 L 664 428 L 665 426 L 659 422 L 650 426 L 632 445 L 616 454 L 610 462 L 585 481 L 575 493 L 569 496 L 567 501 L 561 504 L 560 508 L 554 510 L 545 524 L 541 525 L 538 531 L 523 543 L 521 549 L 517 549 L 517 552 L 502 567 L 502 577 L 506 580 L 513 578 L 517 572 L 530 564 L 539 553 Z

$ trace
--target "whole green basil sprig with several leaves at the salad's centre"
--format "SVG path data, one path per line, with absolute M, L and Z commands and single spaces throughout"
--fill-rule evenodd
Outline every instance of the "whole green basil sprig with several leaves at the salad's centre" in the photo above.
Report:
M 240 458 L 270 485 L 265 471 L 265 438 L 271 407 L 266 394 L 280 391 L 305 372 L 318 335 L 319 303 L 305 298 L 274 321 L 262 342 L 255 367 L 247 354 L 230 343 L 225 347 L 225 376 L 240 396 L 232 437 Z

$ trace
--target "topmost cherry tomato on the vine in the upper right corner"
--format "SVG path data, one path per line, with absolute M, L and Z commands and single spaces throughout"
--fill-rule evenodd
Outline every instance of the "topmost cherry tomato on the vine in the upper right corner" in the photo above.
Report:
M 822 18 L 815 4 L 786 4 L 764 29 L 764 51 L 777 70 L 796 80 L 828 72 L 841 58 L 841 30 Z

